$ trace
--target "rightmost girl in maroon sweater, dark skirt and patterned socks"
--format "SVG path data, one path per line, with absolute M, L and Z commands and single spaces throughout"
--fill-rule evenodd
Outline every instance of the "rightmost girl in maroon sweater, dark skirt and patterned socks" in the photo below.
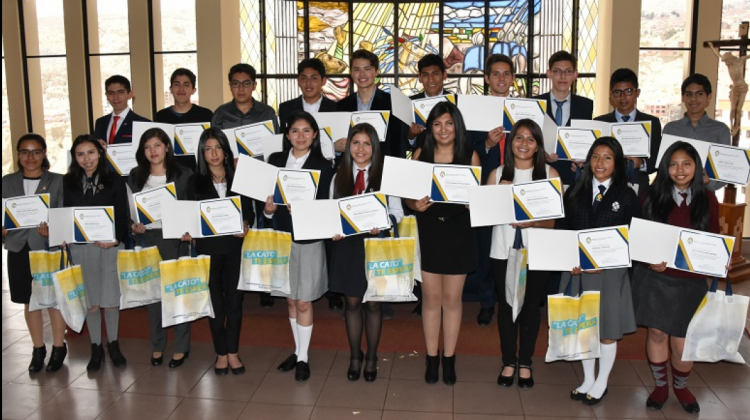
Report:
M 664 153 L 643 203 L 643 217 L 689 229 L 719 233 L 719 203 L 705 184 L 695 148 L 676 142 Z M 633 299 L 638 325 L 648 328 L 646 354 L 656 387 L 646 406 L 660 409 L 669 397 L 669 350 L 677 400 L 688 413 L 700 406 L 687 389 L 693 362 L 682 361 L 688 324 L 708 291 L 706 276 L 666 268 L 667 263 L 636 266 Z

